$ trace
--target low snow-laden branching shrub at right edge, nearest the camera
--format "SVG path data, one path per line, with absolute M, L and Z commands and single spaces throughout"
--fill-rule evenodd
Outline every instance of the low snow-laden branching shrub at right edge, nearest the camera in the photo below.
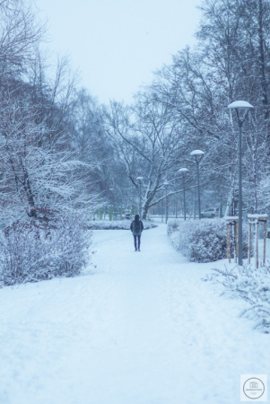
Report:
M 270 264 L 258 269 L 236 266 L 230 271 L 213 268 L 203 280 L 222 284 L 222 294 L 245 300 L 249 306 L 240 315 L 255 321 L 255 329 L 270 333 Z

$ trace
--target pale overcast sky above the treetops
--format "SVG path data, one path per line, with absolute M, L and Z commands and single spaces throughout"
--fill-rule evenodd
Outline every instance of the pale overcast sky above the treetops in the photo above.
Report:
M 195 43 L 200 0 L 35 0 L 48 48 L 68 54 L 100 102 L 132 101 L 152 72 Z

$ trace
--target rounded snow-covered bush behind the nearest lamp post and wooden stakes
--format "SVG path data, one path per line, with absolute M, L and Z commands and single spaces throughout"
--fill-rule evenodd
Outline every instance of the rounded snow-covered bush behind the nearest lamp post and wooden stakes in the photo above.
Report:
M 168 235 L 173 246 L 192 262 L 227 257 L 226 222 L 222 219 L 171 221 Z M 243 228 L 243 257 L 248 256 L 248 228 Z

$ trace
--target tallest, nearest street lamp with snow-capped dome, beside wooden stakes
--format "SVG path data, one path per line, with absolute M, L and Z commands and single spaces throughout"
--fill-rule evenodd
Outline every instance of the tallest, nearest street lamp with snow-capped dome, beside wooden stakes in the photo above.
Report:
M 243 265 L 243 208 L 242 208 L 242 126 L 245 119 L 248 116 L 248 111 L 254 108 L 253 105 L 249 104 L 247 101 L 234 101 L 228 105 L 228 108 L 236 111 L 238 125 L 240 128 L 239 135 L 239 229 L 238 229 L 238 263 Z M 240 117 L 240 110 L 246 110 L 243 118 Z

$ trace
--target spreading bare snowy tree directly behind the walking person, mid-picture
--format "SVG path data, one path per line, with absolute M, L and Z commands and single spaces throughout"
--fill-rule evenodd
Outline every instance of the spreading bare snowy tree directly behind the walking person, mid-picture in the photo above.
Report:
M 110 105 L 106 131 L 118 149 L 126 166 L 126 175 L 139 193 L 137 177 L 144 177 L 143 212 L 165 196 L 159 195 L 164 180 L 177 176 L 179 162 L 187 144 L 183 141 L 184 127 L 165 102 L 159 102 L 149 88 L 136 97 L 133 108 L 117 102 Z M 171 191 L 174 194 L 178 191 Z

